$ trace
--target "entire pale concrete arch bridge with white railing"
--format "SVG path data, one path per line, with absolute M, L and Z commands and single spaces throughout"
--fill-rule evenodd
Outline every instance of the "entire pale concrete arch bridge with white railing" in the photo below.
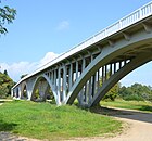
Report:
M 22 78 L 12 97 L 56 105 L 98 104 L 123 77 L 152 60 L 152 1 Z M 51 91 L 51 92 L 50 92 Z

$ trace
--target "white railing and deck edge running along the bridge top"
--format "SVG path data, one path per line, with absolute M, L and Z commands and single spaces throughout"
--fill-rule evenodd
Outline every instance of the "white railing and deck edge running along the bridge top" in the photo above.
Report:
M 99 40 L 102 40 L 150 15 L 152 15 L 152 1 L 147 3 L 145 5 L 141 7 L 140 9 L 134 11 L 129 15 L 123 17 L 122 20 L 117 21 L 116 23 L 112 24 L 111 26 L 104 28 L 103 30 L 101 30 L 97 35 L 92 36 L 91 38 L 85 40 L 84 42 L 79 43 L 78 46 L 72 48 L 67 52 L 62 53 L 60 56 L 55 57 L 54 60 L 50 61 L 42 67 L 38 68 L 34 73 L 31 73 L 31 74 L 27 75 L 26 77 L 24 77 L 23 79 L 21 79 L 15 86 L 17 86 L 21 81 L 31 77 L 33 75 L 48 68 L 49 66 L 68 57 L 69 55 L 72 55 L 83 49 L 86 49 L 87 47 L 93 44 L 94 42 L 98 42 Z

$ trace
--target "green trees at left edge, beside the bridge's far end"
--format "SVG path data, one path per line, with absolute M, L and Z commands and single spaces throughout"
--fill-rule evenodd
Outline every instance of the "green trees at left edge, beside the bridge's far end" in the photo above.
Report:
M 2 74 L 0 72 L 0 98 L 5 98 L 11 94 L 11 88 L 14 81 L 9 77 L 7 70 Z

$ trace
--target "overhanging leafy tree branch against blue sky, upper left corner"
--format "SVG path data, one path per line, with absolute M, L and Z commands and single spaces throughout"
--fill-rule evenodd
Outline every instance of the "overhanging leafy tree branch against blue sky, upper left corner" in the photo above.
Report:
M 0 1 L 1 3 L 1 1 Z M 16 10 L 13 8 L 10 8 L 8 5 L 0 8 L 0 34 L 8 33 L 8 29 L 5 28 L 5 23 L 10 24 L 13 23 L 13 20 L 15 20 Z

